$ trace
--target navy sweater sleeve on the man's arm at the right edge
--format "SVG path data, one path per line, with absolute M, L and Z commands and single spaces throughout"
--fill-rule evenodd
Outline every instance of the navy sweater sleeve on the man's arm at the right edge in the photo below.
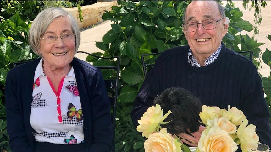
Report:
M 264 98 L 262 80 L 254 65 L 250 71 L 252 72 L 243 81 L 242 111 L 249 124 L 256 126 L 256 133 L 260 137 L 259 142 L 271 147 L 270 113 Z

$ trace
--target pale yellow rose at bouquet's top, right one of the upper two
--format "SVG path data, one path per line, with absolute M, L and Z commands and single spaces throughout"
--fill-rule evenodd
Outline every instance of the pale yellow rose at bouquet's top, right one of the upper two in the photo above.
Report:
M 221 109 L 220 113 L 223 117 L 228 118 L 236 126 L 239 126 L 241 122 L 246 119 L 246 116 L 241 110 L 237 109 L 236 107 L 230 108 L 230 105 L 228 106 L 228 111 Z

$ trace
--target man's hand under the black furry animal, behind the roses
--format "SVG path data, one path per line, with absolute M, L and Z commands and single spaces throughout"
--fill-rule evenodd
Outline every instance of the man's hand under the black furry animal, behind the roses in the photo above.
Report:
M 197 146 L 196 144 L 198 144 L 198 142 L 199 142 L 199 139 L 200 139 L 200 137 L 201 137 L 201 134 L 202 134 L 202 131 L 205 129 L 205 127 L 204 126 L 202 126 L 202 125 L 200 125 L 200 127 L 199 127 L 199 130 L 197 131 L 197 132 L 195 132 L 195 133 L 190 133 L 191 135 L 189 135 L 189 134 L 186 134 L 186 133 L 181 133 L 181 134 L 178 134 L 178 136 L 180 137 L 180 138 L 182 138 L 181 140 L 185 143 L 185 144 L 188 144 L 188 145 L 190 145 L 190 146 Z M 187 130 L 188 132 L 190 132 L 190 130 L 188 129 Z M 194 144 L 194 143 L 195 144 Z

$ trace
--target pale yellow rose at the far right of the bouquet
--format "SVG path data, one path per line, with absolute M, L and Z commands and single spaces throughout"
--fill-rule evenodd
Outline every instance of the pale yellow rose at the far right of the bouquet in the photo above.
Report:
M 246 126 L 247 124 L 248 120 L 245 119 L 236 132 L 242 152 L 258 148 L 259 136 L 256 134 L 256 126 L 253 124 Z

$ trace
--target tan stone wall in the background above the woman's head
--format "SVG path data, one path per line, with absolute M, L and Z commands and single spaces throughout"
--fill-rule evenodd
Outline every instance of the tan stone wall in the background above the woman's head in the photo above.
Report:
M 71 13 L 75 19 L 80 29 L 95 25 L 102 22 L 102 14 L 104 11 L 110 11 L 111 6 L 118 6 L 117 1 L 97 1 L 97 3 L 87 6 L 82 6 L 83 23 L 81 23 L 78 13 L 78 8 L 64 8 L 67 12 Z

